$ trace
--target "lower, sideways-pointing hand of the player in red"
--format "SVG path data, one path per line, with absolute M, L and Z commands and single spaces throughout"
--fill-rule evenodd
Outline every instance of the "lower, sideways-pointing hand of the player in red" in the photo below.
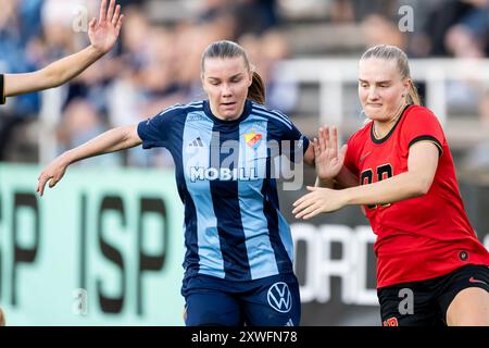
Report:
M 292 214 L 296 219 L 311 219 L 319 213 L 334 212 L 347 204 L 344 190 L 308 186 L 311 192 L 299 198 Z

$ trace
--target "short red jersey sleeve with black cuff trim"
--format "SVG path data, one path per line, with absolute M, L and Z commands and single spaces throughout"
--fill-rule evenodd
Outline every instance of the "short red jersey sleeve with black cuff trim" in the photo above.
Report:
M 443 145 L 446 142 L 443 129 L 437 116 L 428 109 L 423 107 L 413 107 L 406 114 L 402 127 L 402 141 L 409 149 L 418 141 L 430 141 L 435 144 L 443 154 Z

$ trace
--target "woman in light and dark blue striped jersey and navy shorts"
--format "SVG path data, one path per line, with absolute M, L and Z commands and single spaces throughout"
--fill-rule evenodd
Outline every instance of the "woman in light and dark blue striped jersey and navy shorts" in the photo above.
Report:
M 209 100 L 175 105 L 63 153 L 42 171 L 37 190 L 42 195 L 48 181 L 53 187 L 82 159 L 140 144 L 166 147 L 185 204 L 186 324 L 298 325 L 292 239 L 271 163 L 278 149 L 313 164 L 313 149 L 287 116 L 263 107 L 261 77 L 237 44 L 210 45 L 201 79 Z M 287 153 L 289 140 L 297 146 Z

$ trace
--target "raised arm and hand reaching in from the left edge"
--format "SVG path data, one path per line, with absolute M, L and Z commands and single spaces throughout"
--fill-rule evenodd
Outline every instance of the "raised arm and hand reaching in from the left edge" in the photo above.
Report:
M 99 20 L 89 23 L 90 46 L 33 73 L 0 74 L 0 103 L 5 103 L 5 97 L 58 87 L 76 77 L 114 47 L 123 17 L 115 0 L 111 0 L 109 8 L 106 0 L 102 0 Z

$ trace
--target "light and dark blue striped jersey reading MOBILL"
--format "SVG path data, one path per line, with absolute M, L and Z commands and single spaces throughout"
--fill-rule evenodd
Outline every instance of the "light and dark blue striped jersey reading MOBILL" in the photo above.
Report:
M 273 163 L 278 154 L 303 154 L 309 139 L 286 115 L 247 100 L 239 119 L 223 121 L 208 100 L 196 101 L 139 123 L 138 135 L 145 149 L 165 147 L 173 156 L 185 204 L 186 277 L 250 281 L 292 272 Z

